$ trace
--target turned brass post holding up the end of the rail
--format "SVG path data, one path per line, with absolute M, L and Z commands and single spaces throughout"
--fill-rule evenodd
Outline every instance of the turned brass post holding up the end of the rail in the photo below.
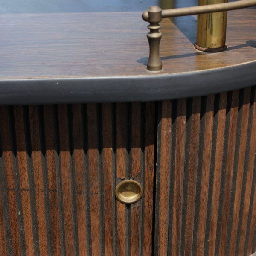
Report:
M 148 13 L 148 17 L 147 17 Z M 148 29 L 150 32 L 147 34 L 149 43 L 149 58 L 147 69 L 150 71 L 160 71 L 162 70 L 162 61 L 160 59 L 160 40 L 162 34 L 159 32 L 160 25 L 159 22 L 162 20 L 162 9 L 158 6 L 150 6 L 147 12 L 143 13 L 144 18 L 150 23 Z

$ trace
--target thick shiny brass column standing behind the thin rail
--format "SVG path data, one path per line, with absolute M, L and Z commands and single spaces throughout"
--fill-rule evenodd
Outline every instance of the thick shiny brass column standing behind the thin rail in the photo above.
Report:
M 227 0 L 198 0 L 198 5 L 226 3 Z M 226 46 L 227 12 L 198 15 L 195 48 L 204 52 L 221 52 Z

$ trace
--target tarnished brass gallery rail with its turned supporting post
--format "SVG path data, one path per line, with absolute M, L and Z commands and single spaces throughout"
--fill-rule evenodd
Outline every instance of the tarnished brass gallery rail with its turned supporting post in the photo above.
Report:
M 162 10 L 158 6 L 151 6 L 147 11 L 143 12 L 142 18 L 148 21 L 150 25 L 148 29 L 148 43 L 149 43 L 149 58 L 147 69 L 149 71 L 162 70 L 162 61 L 160 59 L 159 47 L 162 34 L 159 32 L 161 26 L 159 22 L 162 18 L 178 17 L 195 14 L 205 14 L 212 12 L 224 12 L 235 9 L 242 9 L 250 6 L 256 6 L 256 0 L 240 0 L 230 3 L 217 3 L 203 6 L 193 6 L 177 9 Z

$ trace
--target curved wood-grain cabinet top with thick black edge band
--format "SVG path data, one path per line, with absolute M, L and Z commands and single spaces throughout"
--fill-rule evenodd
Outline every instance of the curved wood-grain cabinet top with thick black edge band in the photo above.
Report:
M 161 22 L 164 69 L 146 70 L 141 12 L 0 15 L 0 102 L 175 99 L 256 84 L 256 9 L 230 11 L 228 49 L 193 47 L 196 16 Z

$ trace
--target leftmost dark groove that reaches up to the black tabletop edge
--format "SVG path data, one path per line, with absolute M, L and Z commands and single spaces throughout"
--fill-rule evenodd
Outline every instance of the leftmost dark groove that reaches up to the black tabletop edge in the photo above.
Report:
M 15 182 L 15 195 L 18 212 L 18 225 L 20 233 L 20 251 L 21 256 L 26 256 L 26 242 L 25 242 L 25 230 L 23 222 L 23 210 L 21 203 L 21 192 L 20 192 L 20 171 L 17 163 L 17 145 L 15 137 L 15 122 L 14 122 L 14 110 L 13 107 L 9 107 L 9 129 L 10 129 L 10 140 L 11 140 L 11 151 L 12 151 L 12 163 L 14 169 L 14 182 Z

